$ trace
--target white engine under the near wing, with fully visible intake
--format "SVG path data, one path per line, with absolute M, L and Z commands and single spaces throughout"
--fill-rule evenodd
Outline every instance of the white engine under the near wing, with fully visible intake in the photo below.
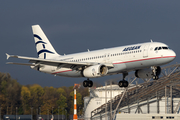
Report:
M 94 65 L 83 70 L 83 76 L 87 78 L 102 77 L 108 73 L 108 68 L 103 65 Z

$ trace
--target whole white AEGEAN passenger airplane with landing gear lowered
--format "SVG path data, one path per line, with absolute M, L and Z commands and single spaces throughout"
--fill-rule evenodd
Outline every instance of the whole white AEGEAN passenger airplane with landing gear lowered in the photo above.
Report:
M 29 63 L 7 64 L 30 66 L 32 69 L 64 77 L 85 77 L 84 87 L 92 87 L 90 78 L 98 78 L 107 75 L 122 74 L 119 87 L 128 87 L 125 80 L 128 72 L 135 71 L 135 76 L 153 80 L 159 79 L 161 65 L 170 63 L 176 57 L 176 53 L 169 49 L 168 45 L 161 42 L 146 42 L 114 48 L 86 51 L 81 53 L 60 55 L 44 34 L 39 25 L 33 25 L 32 31 L 38 58 L 18 55 L 9 57 L 29 60 Z

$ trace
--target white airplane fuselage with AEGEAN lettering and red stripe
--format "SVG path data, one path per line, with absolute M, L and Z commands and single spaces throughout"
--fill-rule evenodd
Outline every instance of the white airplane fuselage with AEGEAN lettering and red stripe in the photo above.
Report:
M 161 49 L 159 47 L 161 47 Z M 107 75 L 111 75 L 145 69 L 151 66 L 164 65 L 173 61 L 175 57 L 175 52 L 168 49 L 166 44 L 160 42 L 147 42 L 58 56 L 52 58 L 52 60 L 96 62 L 99 64 L 111 63 L 114 67 L 110 68 L 107 73 Z M 74 70 L 71 69 L 71 67 L 63 68 L 63 66 L 44 65 L 39 71 L 65 77 L 83 77 L 80 70 Z

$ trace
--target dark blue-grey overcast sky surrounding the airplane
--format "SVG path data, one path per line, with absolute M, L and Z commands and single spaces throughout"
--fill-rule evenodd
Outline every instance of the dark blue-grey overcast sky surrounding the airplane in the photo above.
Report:
M 31 26 L 39 24 L 59 54 L 70 54 L 134 43 L 163 42 L 173 49 L 179 63 L 179 0 L 114 1 L 0 1 L 0 72 L 10 73 L 23 85 L 71 86 L 85 78 L 66 78 L 40 73 L 5 53 L 37 57 Z M 120 75 L 118 75 L 120 76 Z M 100 83 L 118 77 L 92 79 Z

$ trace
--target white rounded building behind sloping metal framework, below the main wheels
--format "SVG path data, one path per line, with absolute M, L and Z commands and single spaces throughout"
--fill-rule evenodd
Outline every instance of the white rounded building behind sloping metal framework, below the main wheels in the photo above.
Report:
M 131 86 L 133 87 L 133 85 Z M 90 96 L 84 98 L 84 118 L 89 120 L 92 110 L 107 103 L 110 99 L 121 94 L 123 91 L 124 88 L 120 88 L 118 85 L 107 85 L 96 89 L 89 88 Z

